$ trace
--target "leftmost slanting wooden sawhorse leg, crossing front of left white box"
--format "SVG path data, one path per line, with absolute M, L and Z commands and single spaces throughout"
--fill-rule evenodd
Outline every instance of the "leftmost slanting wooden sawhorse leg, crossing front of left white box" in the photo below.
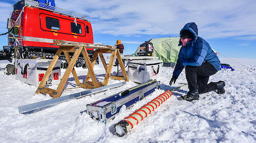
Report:
M 45 86 L 46 81 L 48 80 L 48 78 L 49 78 L 49 76 L 50 76 L 50 74 L 51 74 L 51 72 L 52 72 L 52 69 L 53 69 L 53 67 L 55 66 L 55 64 L 56 64 L 56 62 L 57 62 L 57 60 L 58 60 L 59 55 L 61 54 L 61 52 L 62 52 L 61 49 L 58 49 L 58 50 L 57 50 L 55 56 L 54 56 L 53 59 L 52 59 L 52 62 L 50 63 L 49 67 L 48 67 L 47 70 L 46 70 L 45 76 L 42 78 L 42 80 L 41 80 L 41 82 L 40 82 L 40 84 L 39 84 L 38 87 L 44 87 L 44 86 Z M 38 87 L 37 87 L 36 92 L 35 92 L 35 93 L 37 93 L 37 94 L 39 93 Z

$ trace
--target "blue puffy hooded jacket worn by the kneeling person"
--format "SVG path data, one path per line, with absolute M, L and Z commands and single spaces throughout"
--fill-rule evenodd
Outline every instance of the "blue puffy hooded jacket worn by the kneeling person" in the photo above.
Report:
M 186 65 L 201 66 L 203 62 L 212 64 L 217 70 L 220 70 L 220 60 L 210 45 L 201 37 L 198 37 L 197 25 L 194 22 L 187 23 L 180 33 L 189 30 L 194 38 L 182 46 L 178 56 L 177 64 L 173 76 L 178 77 Z M 179 45 L 182 45 L 180 41 Z

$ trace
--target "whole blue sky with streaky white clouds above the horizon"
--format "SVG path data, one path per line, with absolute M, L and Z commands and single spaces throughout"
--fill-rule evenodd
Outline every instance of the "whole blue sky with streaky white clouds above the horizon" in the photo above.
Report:
M 0 33 L 7 32 L 7 18 L 15 2 L 0 1 Z M 196 22 L 199 36 L 218 53 L 230 58 L 256 58 L 255 0 L 55 0 L 55 4 L 86 14 L 94 42 L 115 45 L 120 39 L 124 55 L 134 53 L 152 38 L 178 37 L 187 22 Z M 3 45 L 7 45 L 6 35 L 0 36 L 0 49 Z

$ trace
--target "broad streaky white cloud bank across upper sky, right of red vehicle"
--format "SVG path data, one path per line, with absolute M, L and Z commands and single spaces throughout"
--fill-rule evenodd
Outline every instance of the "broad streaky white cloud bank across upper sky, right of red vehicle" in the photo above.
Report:
M 256 33 L 256 3 L 247 1 L 55 1 L 56 6 L 87 14 L 94 32 L 113 35 L 176 34 L 195 21 L 199 36 L 219 38 Z M 75 8 L 75 9 L 74 9 Z

